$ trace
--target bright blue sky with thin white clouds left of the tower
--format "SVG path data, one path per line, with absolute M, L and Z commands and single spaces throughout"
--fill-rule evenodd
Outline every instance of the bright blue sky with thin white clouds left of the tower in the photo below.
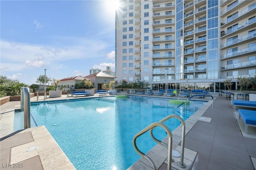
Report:
M 45 73 L 60 80 L 114 71 L 116 2 L 1 0 L 0 75 L 31 85 Z

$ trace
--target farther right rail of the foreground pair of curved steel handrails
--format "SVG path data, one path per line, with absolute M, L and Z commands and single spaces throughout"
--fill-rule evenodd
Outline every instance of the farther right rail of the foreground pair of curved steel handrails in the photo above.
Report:
M 180 162 L 178 162 L 178 166 L 180 166 L 181 168 L 185 168 L 186 167 L 186 164 L 184 164 L 184 146 L 185 146 L 184 143 L 185 143 L 185 129 L 186 129 L 185 128 L 185 121 L 180 116 L 178 116 L 178 115 L 168 115 L 168 116 L 164 117 L 164 119 L 160 120 L 159 122 L 160 123 L 164 123 L 165 121 L 167 121 L 168 119 L 170 119 L 172 117 L 178 119 L 180 121 L 181 125 L 182 125 L 181 156 L 180 156 Z M 168 149 L 168 146 L 166 145 L 166 143 L 163 143 L 163 142 L 157 140 L 154 137 L 154 135 L 153 135 L 153 129 L 154 128 L 155 127 L 150 129 L 150 136 L 152 137 L 152 139 L 155 142 L 157 142 L 157 143 L 159 143 L 161 145 L 164 145 Z

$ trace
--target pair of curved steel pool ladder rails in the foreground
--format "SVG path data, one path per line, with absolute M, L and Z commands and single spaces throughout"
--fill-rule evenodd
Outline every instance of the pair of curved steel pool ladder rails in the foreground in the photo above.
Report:
M 146 158 L 150 164 L 152 165 L 153 169 L 156 170 L 156 165 L 154 164 L 154 162 L 152 161 L 152 159 L 150 157 L 148 157 L 146 154 L 144 154 L 142 151 L 140 151 L 136 145 L 136 139 L 138 137 L 140 137 L 141 135 L 143 135 L 144 133 L 146 133 L 147 131 L 150 131 L 150 136 L 151 138 L 156 141 L 157 143 L 164 145 L 167 149 L 168 149 L 168 165 L 167 165 L 167 169 L 171 170 L 172 167 L 172 132 L 170 131 L 170 129 L 164 124 L 164 122 L 170 118 L 176 118 L 179 119 L 181 124 L 182 124 L 182 141 L 181 141 L 181 156 L 180 156 L 180 162 L 178 162 L 178 166 L 180 166 L 181 168 L 185 168 L 186 165 L 184 164 L 184 143 L 185 143 L 185 122 L 184 120 L 177 116 L 177 115 L 168 115 L 166 116 L 164 119 L 160 120 L 159 122 L 154 122 L 150 125 L 148 125 L 146 128 L 142 129 L 140 132 L 138 132 L 132 140 L 133 143 L 133 147 L 135 149 L 135 151 L 142 156 L 143 158 Z M 153 129 L 155 127 L 162 127 L 168 136 L 168 145 L 166 143 L 163 143 L 162 141 L 159 141 L 158 139 L 156 139 L 153 135 Z

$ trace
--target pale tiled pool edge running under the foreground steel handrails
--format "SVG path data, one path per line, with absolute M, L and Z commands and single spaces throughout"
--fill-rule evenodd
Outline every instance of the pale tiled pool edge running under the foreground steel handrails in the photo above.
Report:
M 192 127 L 196 124 L 196 122 L 202 117 L 204 112 L 212 105 L 212 100 L 208 101 L 204 106 L 202 106 L 198 111 L 196 111 L 193 115 L 191 115 L 185 121 L 185 135 L 192 129 Z M 181 152 L 181 147 L 178 145 L 181 142 L 182 138 L 182 125 L 179 125 L 174 131 L 172 131 L 172 149 L 178 150 Z M 168 143 L 168 137 L 163 139 L 164 143 Z M 160 168 L 160 166 L 165 162 L 167 164 L 167 154 L 168 149 L 166 147 L 157 144 L 153 147 L 146 155 L 148 155 L 156 165 L 156 169 Z M 174 158 L 174 162 L 172 162 L 172 167 L 176 169 L 189 170 L 194 162 L 197 152 L 184 149 L 184 163 L 186 164 L 186 168 L 180 168 L 177 163 L 180 161 L 180 158 Z M 138 169 L 152 169 L 152 166 L 148 160 L 145 158 L 140 158 L 136 161 L 132 166 L 128 168 L 128 170 L 138 170 Z

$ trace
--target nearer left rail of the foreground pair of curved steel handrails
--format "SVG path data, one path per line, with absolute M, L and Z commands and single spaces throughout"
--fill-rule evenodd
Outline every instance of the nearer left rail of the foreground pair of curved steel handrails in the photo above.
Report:
M 147 131 L 149 131 L 150 129 L 152 129 L 154 127 L 157 127 L 157 126 L 162 127 L 168 135 L 168 165 L 167 165 L 168 168 L 167 169 L 171 170 L 171 167 L 172 167 L 172 132 L 170 131 L 170 129 L 166 125 L 164 125 L 161 122 L 154 122 L 154 123 L 148 125 L 144 129 L 139 131 L 136 135 L 134 135 L 133 140 L 132 140 L 132 144 L 133 144 L 134 150 L 140 156 L 142 156 L 143 158 L 146 158 L 150 162 L 150 164 L 152 165 L 153 169 L 156 170 L 156 165 L 154 164 L 152 159 L 138 149 L 138 147 L 136 145 L 136 139 L 138 137 L 140 137 L 141 135 L 143 135 L 144 133 L 146 133 Z

